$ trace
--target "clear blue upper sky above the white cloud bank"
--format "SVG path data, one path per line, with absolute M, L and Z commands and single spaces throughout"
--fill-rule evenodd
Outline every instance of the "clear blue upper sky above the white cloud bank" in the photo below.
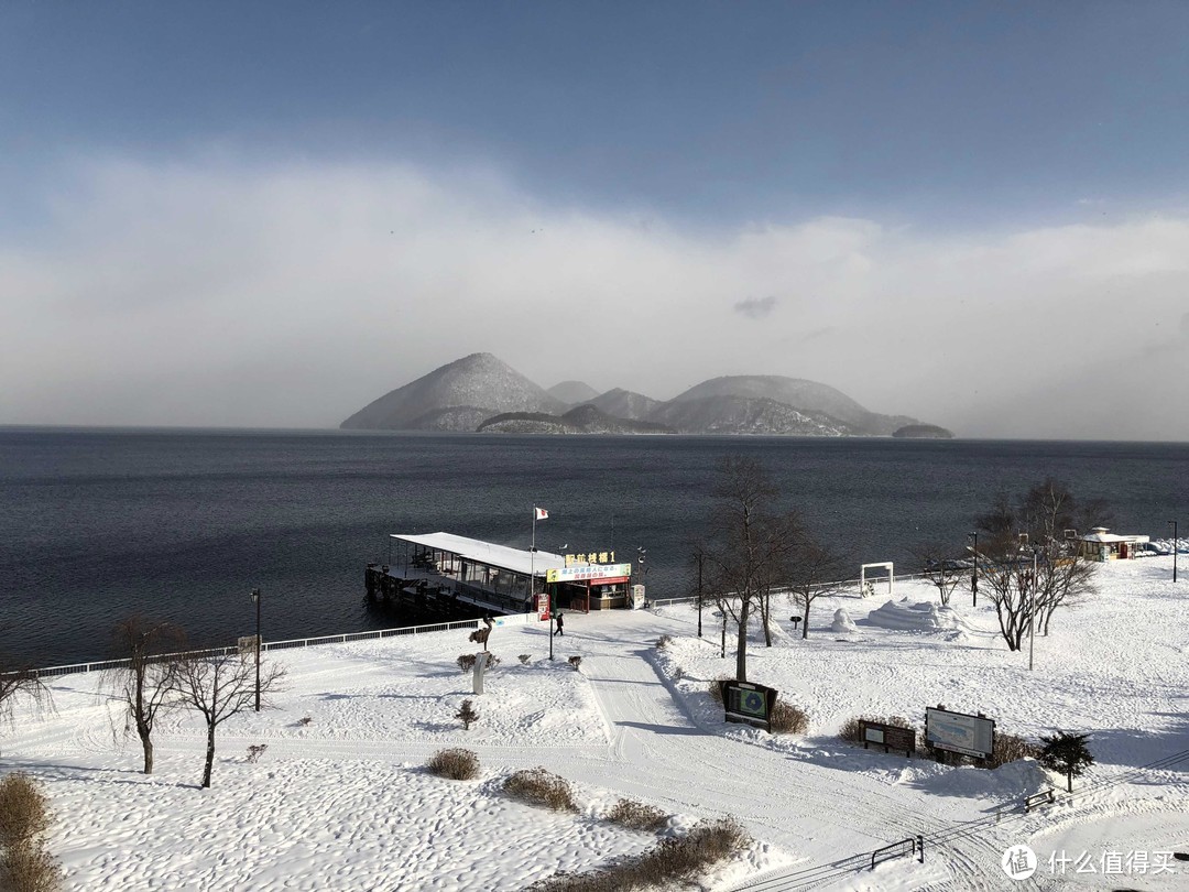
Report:
M 10 177 L 63 153 L 490 162 L 560 202 L 949 226 L 1165 205 L 1189 5 L 13 4 Z M 1174 187 L 1174 188 L 1170 188 Z

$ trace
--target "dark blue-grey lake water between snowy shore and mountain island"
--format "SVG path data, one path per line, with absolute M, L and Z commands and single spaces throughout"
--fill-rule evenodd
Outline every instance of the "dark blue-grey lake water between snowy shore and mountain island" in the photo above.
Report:
M 1000 490 L 1046 475 L 1108 500 L 1115 529 L 1189 529 L 1189 445 L 711 436 L 0 428 L 0 652 L 38 665 L 108 653 L 140 613 L 226 643 L 401 623 L 364 601 L 389 533 L 528 547 L 647 548 L 649 595 L 685 593 L 690 540 L 726 453 L 857 561 L 957 554 Z

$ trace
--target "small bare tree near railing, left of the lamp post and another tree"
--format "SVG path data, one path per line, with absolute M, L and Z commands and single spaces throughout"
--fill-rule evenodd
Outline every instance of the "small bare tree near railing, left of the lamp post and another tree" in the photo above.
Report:
M 132 616 L 112 632 L 114 649 L 127 660 L 111 671 L 117 696 L 126 706 L 125 734 L 136 730 L 144 753 L 144 773 L 152 774 L 152 729 L 157 714 L 177 703 L 178 660 L 185 634 L 169 623 Z

